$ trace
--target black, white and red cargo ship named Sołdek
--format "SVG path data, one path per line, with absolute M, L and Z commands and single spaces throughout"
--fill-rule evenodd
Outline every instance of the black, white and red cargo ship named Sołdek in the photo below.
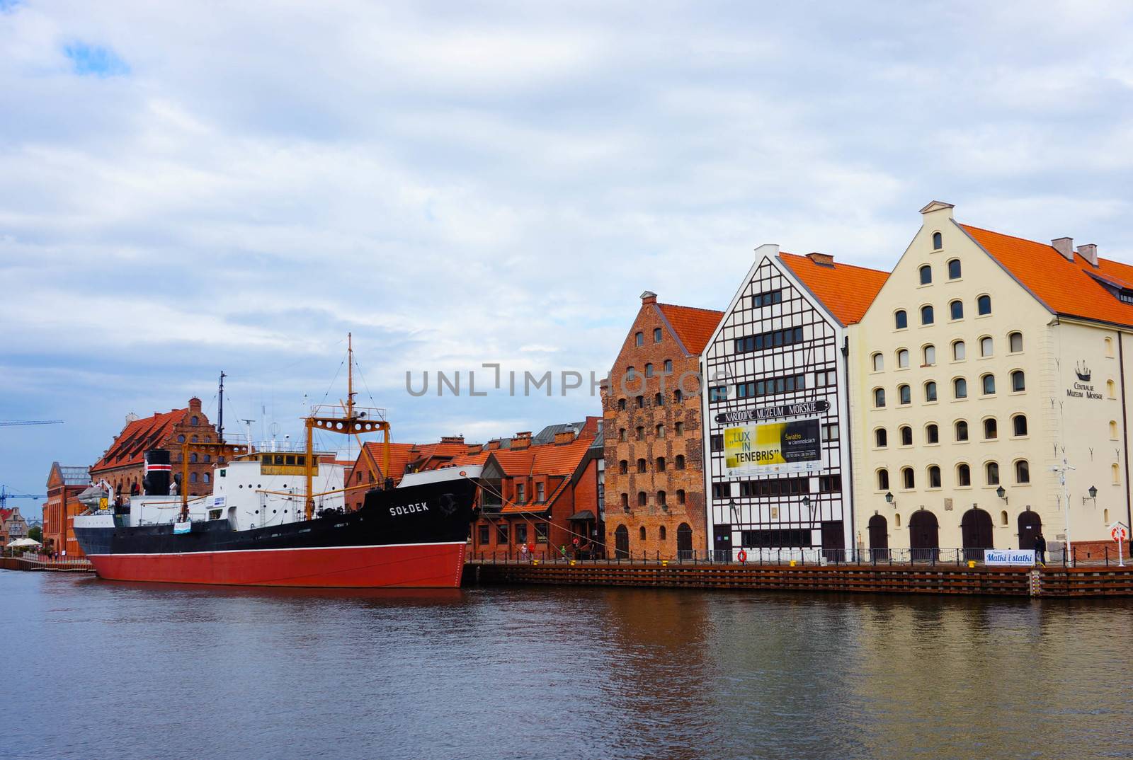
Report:
M 207 496 L 177 494 L 165 449 L 145 453 L 144 494 L 121 502 L 105 484 L 88 489 L 91 507 L 75 518 L 75 537 L 95 572 L 108 580 L 165 583 L 459 587 L 479 467 L 350 486 L 343 464 L 314 449 L 318 430 L 381 433 L 383 462 L 372 464 L 390 471 L 390 426 L 381 410 L 353 404 L 352 348 L 349 357 L 347 403 L 306 418 L 301 450 L 186 442 L 181 485 L 193 454 L 216 462 Z M 363 506 L 347 510 L 344 494 L 359 487 L 366 488 Z

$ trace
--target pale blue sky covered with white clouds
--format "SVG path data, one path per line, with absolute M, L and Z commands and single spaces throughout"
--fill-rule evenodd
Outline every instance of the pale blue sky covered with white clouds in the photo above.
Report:
M 934 198 L 1133 261 L 1131 37 L 1126 2 L 0 0 L 0 418 L 66 420 L 0 428 L 0 483 L 221 369 L 230 429 L 295 435 L 347 332 L 399 441 L 600 413 L 406 373 L 603 374 L 642 290 L 723 308 L 764 242 L 888 267 Z

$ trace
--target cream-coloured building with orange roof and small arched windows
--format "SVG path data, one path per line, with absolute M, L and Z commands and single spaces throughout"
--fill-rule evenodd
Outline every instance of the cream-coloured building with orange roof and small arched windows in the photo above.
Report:
M 1039 529 L 1051 549 L 1068 529 L 1083 558 L 1111 545 L 1131 512 L 1133 266 L 960 224 L 949 204 L 921 214 L 850 327 L 858 546 L 978 556 Z

